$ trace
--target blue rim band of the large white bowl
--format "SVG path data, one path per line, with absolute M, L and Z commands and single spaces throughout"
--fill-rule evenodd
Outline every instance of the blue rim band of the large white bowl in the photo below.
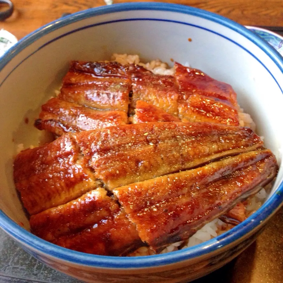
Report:
M 111 6 L 102 6 L 98 8 L 88 9 L 80 11 L 75 14 L 71 14 L 64 18 L 51 22 L 40 29 L 32 32 L 24 37 L 16 45 L 10 48 L 2 57 L 0 57 L 0 71 L 6 66 L 6 64 L 15 57 L 20 51 L 32 44 L 40 37 L 63 27 L 65 25 L 77 22 L 88 17 L 98 16 L 102 14 L 115 13 L 121 11 L 133 11 L 133 10 L 157 10 L 157 11 L 170 11 L 178 12 L 182 14 L 189 14 L 200 18 L 208 19 L 215 23 L 228 27 L 248 40 L 256 44 L 266 55 L 268 55 L 277 67 L 283 73 L 283 58 L 279 53 L 271 47 L 267 42 L 262 40 L 259 36 L 249 31 L 242 25 L 229 20 L 220 15 L 212 12 L 204 11 L 198 8 L 183 6 L 178 4 L 167 3 L 124 3 L 114 4 Z M 209 254 L 217 249 L 223 248 L 234 241 L 240 239 L 247 233 L 251 232 L 261 223 L 265 222 L 271 217 L 282 205 L 283 202 L 283 182 L 280 183 L 277 191 L 248 219 L 240 223 L 238 226 L 232 228 L 226 233 L 217 236 L 209 241 L 201 243 L 199 245 L 174 251 L 167 254 L 159 254 L 154 256 L 138 256 L 133 258 L 127 257 L 114 257 L 114 256 L 99 256 L 92 254 L 85 254 L 78 251 L 56 246 L 52 243 L 44 241 L 37 236 L 34 236 L 24 228 L 20 227 L 17 223 L 11 220 L 2 210 L 0 210 L 0 227 L 3 228 L 11 236 L 19 240 L 22 244 L 26 245 L 32 254 L 37 258 L 44 260 L 45 256 L 39 255 L 37 250 L 43 254 L 53 256 L 55 258 L 69 261 L 72 263 L 82 264 L 86 266 L 94 266 L 99 268 L 117 268 L 117 269 L 133 269 L 133 268 L 146 268 L 154 266 L 163 266 L 167 264 L 173 264 L 176 262 L 196 258 Z

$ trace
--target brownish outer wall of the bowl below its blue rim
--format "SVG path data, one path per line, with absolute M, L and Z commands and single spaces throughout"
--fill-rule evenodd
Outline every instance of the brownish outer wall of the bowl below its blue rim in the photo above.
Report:
M 222 267 L 256 240 L 256 237 L 263 231 L 253 231 L 251 235 L 240 238 L 232 245 L 218 249 L 216 252 L 208 253 L 194 259 L 184 260 L 180 263 L 167 266 L 147 267 L 139 269 L 102 269 L 90 267 L 82 264 L 74 264 L 56 257 L 50 257 L 38 250 L 21 244 L 22 248 L 36 259 L 44 262 L 48 266 L 59 270 L 65 274 L 75 277 L 83 282 L 89 283 L 175 283 L 190 282 L 199 277 L 205 276 L 210 272 Z

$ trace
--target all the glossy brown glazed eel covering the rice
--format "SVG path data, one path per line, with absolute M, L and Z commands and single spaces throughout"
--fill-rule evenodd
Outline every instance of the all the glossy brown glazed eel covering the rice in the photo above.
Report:
M 71 62 L 35 122 L 61 137 L 14 161 L 35 235 L 124 256 L 144 245 L 159 252 L 217 217 L 245 219 L 241 201 L 276 175 L 274 155 L 238 126 L 230 85 L 175 69 L 162 76 L 134 64 Z

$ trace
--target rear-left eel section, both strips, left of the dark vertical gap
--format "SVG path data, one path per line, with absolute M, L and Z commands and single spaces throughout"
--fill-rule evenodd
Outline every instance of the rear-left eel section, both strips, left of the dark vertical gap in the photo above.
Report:
M 128 123 L 133 73 L 150 71 L 134 64 L 72 61 L 60 94 L 42 105 L 34 126 L 61 136 Z

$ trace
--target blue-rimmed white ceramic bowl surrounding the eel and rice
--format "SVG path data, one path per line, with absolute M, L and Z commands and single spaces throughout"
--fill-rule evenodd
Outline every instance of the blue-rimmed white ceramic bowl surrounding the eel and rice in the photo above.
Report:
M 269 199 L 240 225 L 188 249 L 136 258 L 84 254 L 37 238 L 29 232 L 14 188 L 15 147 L 36 144 L 39 131 L 31 120 L 59 86 L 68 62 L 105 60 L 113 52 L 189 62 L 231 84 L 281 164 L 283 60 L 264 40 L 229 19 L 187 6 L 90 9 L 47 24 L 1 57 L 0 226 L 40 261 L 85 282 L 188 282 L 223 266 L 255 240 L 282 204 L 282 165 Z

